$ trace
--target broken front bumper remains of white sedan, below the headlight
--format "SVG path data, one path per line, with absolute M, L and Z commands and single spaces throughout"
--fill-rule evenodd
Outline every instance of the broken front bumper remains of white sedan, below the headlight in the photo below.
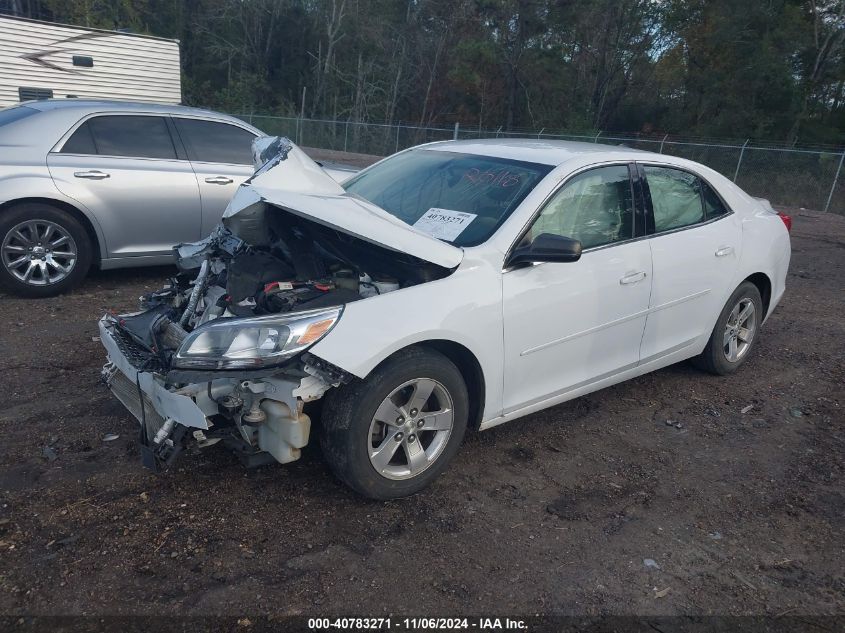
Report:
M 99 322 L 106 348 L 103 380 L 141 424 L 142 456 L 154 469 L 169 465 L 191 439 L 200 447 L 221 439 L 250 463 L 291 462 L 308 443 L 306 400 L 329 387 L 320 378 L 284 374 L 244 380 L 214 378 L 169 385 L 163 368 L 123 333 L 111 316 Z M 221 403 L 240 403 L 228 408 Z M 247 421 L 248 420 L 248 421 Z M 259 454 L 267 459 L 254 459 Z

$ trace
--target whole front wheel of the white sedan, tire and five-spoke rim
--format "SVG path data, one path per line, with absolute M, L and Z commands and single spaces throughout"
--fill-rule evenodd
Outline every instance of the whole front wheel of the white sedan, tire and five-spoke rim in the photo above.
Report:
M 466 431 L 468 409 L 454 363 L 433 350 L 409 348 L 365 380 L 326 394 L 323 454 L 360 494 L 406 497 L 446 469 Z

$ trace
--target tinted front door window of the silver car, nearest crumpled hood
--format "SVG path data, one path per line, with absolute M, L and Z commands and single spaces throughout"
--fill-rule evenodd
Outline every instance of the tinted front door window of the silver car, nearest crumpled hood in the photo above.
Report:
M 191 160 L 252 165 L 252 141 L 255 140 L 252 132 L 214 121 L 176 117 L 174 121 Z

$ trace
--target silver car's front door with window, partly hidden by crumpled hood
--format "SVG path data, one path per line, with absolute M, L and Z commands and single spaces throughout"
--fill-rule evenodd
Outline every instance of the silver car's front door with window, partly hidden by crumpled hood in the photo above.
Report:
M 173 117 L 197 175 L 202 234 L 211 233 L 235 190 L 252 176 L 255 134 L 232 123 Z

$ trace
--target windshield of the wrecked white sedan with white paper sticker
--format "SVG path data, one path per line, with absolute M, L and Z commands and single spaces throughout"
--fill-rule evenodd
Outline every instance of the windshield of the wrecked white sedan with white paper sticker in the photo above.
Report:
M 455 246 L 486 241 L 538 182 L 548 165 L 492 156 L 415 149 L 344 183 L 347 192 Z

